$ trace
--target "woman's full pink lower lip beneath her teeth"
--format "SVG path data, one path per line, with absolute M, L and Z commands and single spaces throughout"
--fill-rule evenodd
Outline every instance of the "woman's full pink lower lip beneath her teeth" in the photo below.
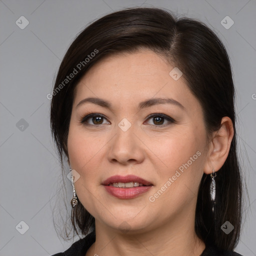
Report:
M 108 193 L 110 193 L 111 195 L 117 198 L 131 199 L 139 196 L 140 194 L 147 192 L 152 187 L 152 185 L 133 186 L 133 187 L 127 187 L 127 188 L 104 185 L 104 187 Z

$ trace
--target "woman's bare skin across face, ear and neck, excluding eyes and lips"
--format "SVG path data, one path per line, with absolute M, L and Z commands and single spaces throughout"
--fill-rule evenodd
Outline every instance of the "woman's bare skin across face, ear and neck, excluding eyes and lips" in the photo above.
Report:
M 95 217 L 96 241 L 86 256 L 94 255 L 200 255 L 205 244 L 194 232 L 197 191 L 203 172 L 223 165 L 233 136 L 230 118 L 207 140 L 199 101 L 181 76 L 174 80 L 174 65 L 150 50 L 115 54 L 94 64 L 76 86 L 68 132 L 68 163 L 79 173 L 76 195 Z M 112 108 L 86 102 L 86 97 L 108 100 Z M 183 105 L 158 104 L 138 108 L 139 102 L 169 97 Z M 100 121 L 89 118 L 100 113 Z M 152 113 L 163 113 L 160 127 Z M 126 118 L 126 131 L 118 123 Z M 101 123 L 101 124 L 97 124 Z M 158 198 L 148 198 L 196 152 L 201 154 Z M 153 186 L 133 199 L 116 198 L 101 184 L 119 174 L 134 174 Z M 125 221 L 125 222 L 124 222 Z M 123 226 L 128 230 L 124 230 Z

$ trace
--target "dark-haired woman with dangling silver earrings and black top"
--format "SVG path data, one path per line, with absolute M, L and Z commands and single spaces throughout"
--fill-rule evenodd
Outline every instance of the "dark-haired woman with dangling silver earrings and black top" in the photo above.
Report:
M 72 173 L 60 255 L 240 255 L 241 177 L 226 50 L 200 21 L 129 8 L 67 50 L 51 130 Z

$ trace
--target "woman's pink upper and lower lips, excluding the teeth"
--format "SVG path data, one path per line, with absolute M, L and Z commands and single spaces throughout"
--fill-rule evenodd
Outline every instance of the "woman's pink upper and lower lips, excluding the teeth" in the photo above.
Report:
M 122 182 L 122 183 L 127 183 L 127 182 L 138 182 L 142 183 L 143 186 L 136 186 L 136 187 L 114 187 L 109 185 L 110 183 L 114 182 Z M 126 176 L 120 176 L 120 175 L 115 175 L 107 178 L 102 182 L 102 185 L 104 185 L 106 191 L 110 193 L 111 195 L 121 198 L 121 199 L 131 199 L 134 197 L 137 197 L 138 195 L 147 192 L 151 187 L 152 184 L 140 177 L 137 177 L 135 175 L 126 175 Z

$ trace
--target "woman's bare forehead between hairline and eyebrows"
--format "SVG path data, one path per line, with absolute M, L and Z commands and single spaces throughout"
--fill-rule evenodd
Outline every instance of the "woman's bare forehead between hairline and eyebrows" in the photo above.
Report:
M 118 104 L 166 96 L 182 105 L 198 103 L 182 76 L 177 80 L 170 76 L 174 67 L 151 50 L 104 57 L 76 85 L 74 104 L 88 96 Z

